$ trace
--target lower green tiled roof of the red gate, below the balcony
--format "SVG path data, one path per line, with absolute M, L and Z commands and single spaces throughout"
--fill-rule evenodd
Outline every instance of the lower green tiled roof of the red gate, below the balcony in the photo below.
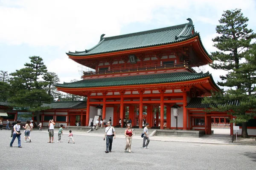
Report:
M 108 86 L 122 86 L 122 85 L 147 85 L 169 82 L 183 82 L 195 79 L 201 79 L 212 75 L 207 73 L 189 73 L 178 72 L 168 74 L 149 74 L 139 76 L 125 76 L 125 77 L 109 77 L 98 79 L 83 79 L 77 82 L 70 82 L 56 85 L 57 88 L 94 88 L 94 87 L 108 87 Z M 213 81 L 213 79 L 212 79 Z M 214 82 L 214 81 L 213 81 Z M 218 87 L 216 85 L 216 87 Z

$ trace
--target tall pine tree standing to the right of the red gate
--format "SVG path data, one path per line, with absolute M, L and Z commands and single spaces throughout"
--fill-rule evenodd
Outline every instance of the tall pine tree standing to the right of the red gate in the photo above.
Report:
M 229 87 L 227 91 L 212 92 L 211 98 L 204 98 L 209 103 L 210 111 L 228 111 L 236 116 L 235 123 L 242 124 L 242 137 L 248 137 L 247 122 L 255 116 L 255 46 L 251 40 L 256 38 L 252 29 L 247 28 L 248 18 L 244 17 L 241 9 L 227 10 L 216 26 L 220 36 L 212 39 L 218 51 L 212 52 L 215 61 L 210 66 L 214 69 L 228 71 L 221 75 L 220 86 Z M 231 102 L 239 102 L 232 105 Z

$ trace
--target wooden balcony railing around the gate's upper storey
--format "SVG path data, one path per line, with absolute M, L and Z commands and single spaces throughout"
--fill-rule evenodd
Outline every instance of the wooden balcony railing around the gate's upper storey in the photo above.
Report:
M 162 65 L 149 65 L 149 66 L 139 66 L 139 67 L 129 67 L 129 68 L 117 68 L 109 70 L 99 70 L 99 71 L 83 71 L 84 76 L 97 75 L 97 74 L 116 74 L 124 72 L 137 72 L 137 71 L 152 71 L 152 70 L 163 70 L 169 68 L 190 68 L 193 72 L 193 68 L 189 67 L 188 62 L 179 62 L 173 64 L 162 64 Z

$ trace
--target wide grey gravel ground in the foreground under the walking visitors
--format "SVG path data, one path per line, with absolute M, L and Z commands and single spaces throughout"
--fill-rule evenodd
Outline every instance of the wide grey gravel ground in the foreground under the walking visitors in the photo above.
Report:
M 47 143 L 47 131 L 33 131 L 31 143 L 23 143 L 22 148 L 9 147 L 11 130 L 0 130 L 0 169 L 30 170 L 253 170 L 256 167 L 256 147 L 228 144 L 202 144 L 189 142 L 150 141 L 149 149 L 142 148 L 142 139 L 133 139 L 132 153 L 125 153 L 125 139 L 113 140 L 112 153 L 105 153 L 106 142 L 102 134 L 74 134 L 73 143 L 67 143 L 67 131 L 57 143 Z

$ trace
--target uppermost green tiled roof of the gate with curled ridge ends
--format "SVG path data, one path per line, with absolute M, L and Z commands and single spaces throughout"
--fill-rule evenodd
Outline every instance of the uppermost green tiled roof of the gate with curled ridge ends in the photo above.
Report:
M 104 54 L 116 51 L 125 51 L 137 48 L 172 44 L 188 40 L 197 35 L 199 36 L 198 33 L 192 34 L 192 31 L 194 30 L 193 22 L 190 18 L 188 18 L 187 20 L 189 20 L 189 23 L 186 24 L 131 34 L 124 34 L 114 37 L 104 38 L 103 36 L 105 34 L 102 34 L 100 42 L 93 48 L 85 51 L 69 51 L 66 54 L 71 56 L 90 56 L 94 54 Z M 206 50 L 205 52 L 207 53 Z

